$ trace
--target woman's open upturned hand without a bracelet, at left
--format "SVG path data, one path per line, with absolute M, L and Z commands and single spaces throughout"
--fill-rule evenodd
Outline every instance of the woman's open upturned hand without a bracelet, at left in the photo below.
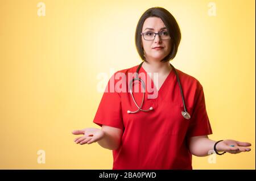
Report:
M 104 137 L 104 132 L 98 128 L 84 128 L 80 130 L 75 130 L 72 132 L 73 134 L 79 135 L 84 134 L 84 136 L 75 138 L 76 144 L 91 144 L 93 142 L 97 142 Z

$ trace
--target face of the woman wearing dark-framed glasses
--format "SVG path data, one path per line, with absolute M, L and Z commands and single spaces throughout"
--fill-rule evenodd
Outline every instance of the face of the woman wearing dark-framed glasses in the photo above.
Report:
M 158 17 L 150 17 L 147 18 L 142 27 L 142 33 L 144 32 L 162 32 L 166 31 L 167 29 L 162 29 L 166 26 L 164 26 L 164 23 L 161 18 Z M 146 29 L 146 28 L 152 28 Z M 146 30 L 145 30 L 146 29 Z M 168 40 L 161 40 L 161 38 L 156 35 L 155 40 L 144 40 L 143 35 L 142 38 L 142 47 L 144 49 L 144 54 L 147 61 L 160 61 L 163 60 L 164 57 L 166 57 L 170 51 L 171 51 L 171 43 L 170 39 Z M 154 47 L 163 47 L 162 49 L 154 49 Z

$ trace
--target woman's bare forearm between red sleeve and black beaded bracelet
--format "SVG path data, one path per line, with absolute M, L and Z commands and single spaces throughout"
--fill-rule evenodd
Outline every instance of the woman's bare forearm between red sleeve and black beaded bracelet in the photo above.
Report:
M 192 137 L 189 141 L 189 150 L 197 157 L 205 157 L 213 153 L 215 143 L 216 141 L 205 136 Z

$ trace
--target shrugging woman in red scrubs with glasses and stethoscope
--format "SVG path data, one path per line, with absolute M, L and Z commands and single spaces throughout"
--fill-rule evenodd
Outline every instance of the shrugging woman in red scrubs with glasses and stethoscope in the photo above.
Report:
M 113 169 L 192 169 L 192 154 L 203 157 L 212 150 L 217 154 L 250 151 L 248 142 L 208 138 L 212 129 L 203 87 L 169 62 L 176 56 L 180 39 L 180 28 L 166 9 L 153 7 L 144 12 L 135 33 L 135 44 L 144 61 L 110 78 L 93 120 L 102 128 L 73 131 L 83 134 L 75 142 L 98 142 L 113 150 Z M 133 95 L 129 92 L 129 85 L 135 89 L 143 84 L 138 80 L 129 83 L 129 74 L 136 71 L 145 83 L 142 105 L 143 92 L 134 92 L 133 88 Z M 150 73 L 158 73 L 154 81 Z M 109 91 L 113 85 L 114 91 Z

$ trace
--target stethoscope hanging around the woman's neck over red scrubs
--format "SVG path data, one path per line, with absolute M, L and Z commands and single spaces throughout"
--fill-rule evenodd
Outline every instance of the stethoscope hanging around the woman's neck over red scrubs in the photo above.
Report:
M 144 61 L 143 61 L 144 62 Z M 127 111 L 127 113 L 137 113 L 139 111 L 143 111 L 143 112 L 148 112 L 148 111 L 152 111 L 153 110 L 153 107 L 150 107 L 148 110 L 142 110 L 142 105 L 143 105 L 143 102 L 144 102 L 144 97 L 145 97 L 145 92 L 146 92 L 146 85 L 144 83 L 144 81 L 142 79 L 139 78 L 139 69 L 141 69 L 141 66 L 143 64 L 143 62 L 141 62 L 141 64 L 138 66 L 137 70 L 136 70 L 136 77 L 131 79 L 130 83 L 129 83 L 129 91 L 130 91 L 130 94 L 131 94 L 131 97 L 133 98 L 133 102 L 135 103 L 135 105 L 137 106 L 138 110 L 137 111 Z M 176 78 L 177 78 L 177 82 L 179 83 L 179 87 L 180 87 L 180 94 L 181 94 L 181 98 L 182 98 L 182 102 L 183 102 L 183 107 L 184 107 L 184 111 L 181 111 L 181 115 L 185 118 L 185 119 L 190 119 L 190 115 L 189 113 L 187 112 L 187 108 L 185 106 L 185 101 L 184 101 L 184 96 L 183 96 L 183 91 L 182 91 L 182 88 L 181 88 L 181 84 L 180 84 L 180 79 L 179 79 L 179 75 L 177 74 L 177 71 L 176 69 L 174 68 L 174 66 L 170 63 L 172 69 L 174 70 L 175 74 L 176 74 Z M 133 82 L 134 81 L 139 81 L 141 82 L 142 84 L 142 87 L 143 87 L 143 97 L 142 97 L 142 102 L 141 102 L 141 106 L 138 106 L 137 102 L 135 101 L 134 99 L 134 96 L 133 96 L 133 91 L 131 89 L 132 85 L 133 85 Z

